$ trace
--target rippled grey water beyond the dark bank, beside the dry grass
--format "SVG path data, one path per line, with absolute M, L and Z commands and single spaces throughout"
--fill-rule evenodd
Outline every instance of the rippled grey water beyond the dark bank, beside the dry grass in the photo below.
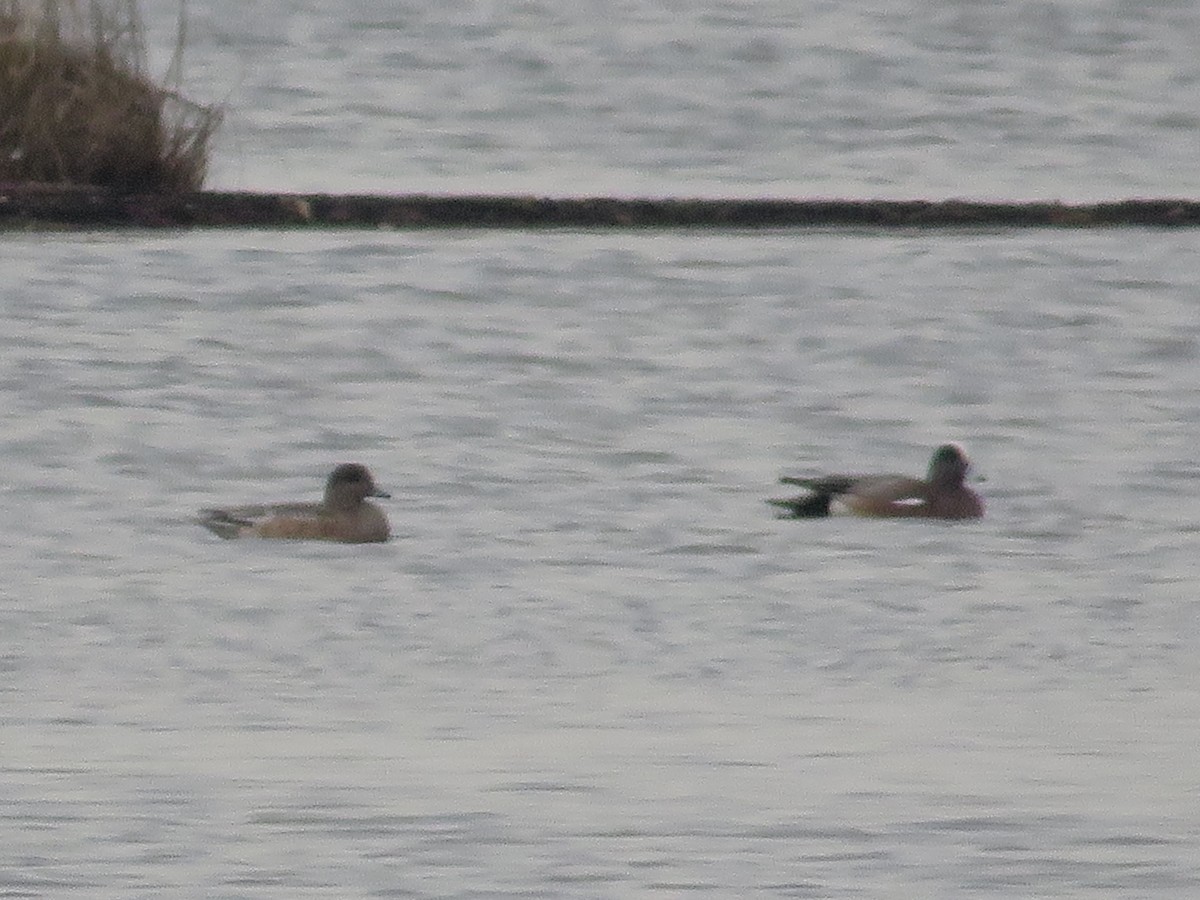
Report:
M 154 10 L 166 60 L 174 10 Z M 214 184 L 283 191 L 1200 194 L 1189 0 L 190 4 Z

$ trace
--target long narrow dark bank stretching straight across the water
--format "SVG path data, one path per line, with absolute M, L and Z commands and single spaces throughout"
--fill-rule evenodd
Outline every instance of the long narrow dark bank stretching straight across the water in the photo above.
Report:
M 616 199 L 0 186 L 0 228 L 1109 228 L 1196 227 L 1200 202 Z

